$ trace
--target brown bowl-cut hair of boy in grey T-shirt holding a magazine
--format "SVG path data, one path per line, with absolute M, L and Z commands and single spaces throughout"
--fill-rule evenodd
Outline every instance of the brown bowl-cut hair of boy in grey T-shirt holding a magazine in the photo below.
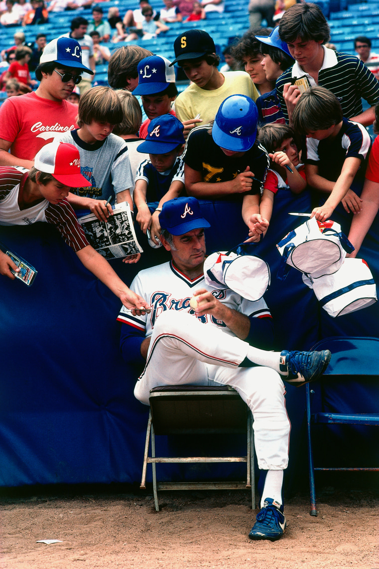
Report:
M 77 125 L 89 125 L 92 121 L 117 125 L 123 120 L 120 99 L 110 87 L 92 87 L 80 97 Z

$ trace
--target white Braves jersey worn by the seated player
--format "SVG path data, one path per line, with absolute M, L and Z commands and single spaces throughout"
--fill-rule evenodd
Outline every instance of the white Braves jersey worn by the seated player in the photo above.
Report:
M 130 288 L 141 295 L 150 304 L 152 310 L 150 314 L 133 316 L 125 307 L 122 307 L 117 320 L 145 332 L 146 336 L 151 335 L 155 320 L 166 310 L 184 310 L 195 316 L 195 312 L 190 307 L 190 299 L 193 292 L 198 288 L 207 288 L 207 290 L 212 291 L 217 300 L 246 316 L 253 316 L 254 318 L 271 317 L 263 298 L 252 302 L 242 298 L 232 290 L 216 290 L 205 283 L 204 275 L 200 275 L 191 281 L 176 269 L 172 261 L 140 271 L 131 283 Z M 221 328 L 224 332 L 234 336 L 223 321 L 216 320 L 210 314 L 201 316 L 199 320 L 204 324 Z

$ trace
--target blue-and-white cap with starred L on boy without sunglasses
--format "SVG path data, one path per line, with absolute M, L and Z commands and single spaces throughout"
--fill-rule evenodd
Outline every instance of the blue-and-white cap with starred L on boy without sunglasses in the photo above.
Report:
M 170 83 L 175 83 L 175 71 L 170 67 L 170 61 L 160 55 L 144 57 L 137 65 L 138 86 L 134 95 L 153 95 L 167 89 Z

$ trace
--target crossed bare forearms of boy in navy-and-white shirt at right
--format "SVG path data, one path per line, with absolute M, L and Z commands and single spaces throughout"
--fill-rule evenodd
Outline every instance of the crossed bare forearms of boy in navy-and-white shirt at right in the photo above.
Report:
M 330 196 L 324 203 L 324 205 L 319 208 L 314 208 L 311 217 L 315 216 L 319 221 L 326 221 L 333 213 L 340 201 L 344 200 L 348 192 L 355 194 L 350 189 L 350 186 L 355 178 L 355 175 L 360 167 L 361 160 L 355 158 L 354 156 L 349 156 L 345 159 L 344 165 L 341 170 L 341 174 L 337 178 L 336 182 L 330 182 L 318 175 L 318 167 L 314 164 L 307 164 L 306 173 L 308 183 L 320 191 L 329 192 Z M 308 177 L 308 171 L 310 171 L 310 177 Z M 317 172 L 317 173 L 316 173 Z M 331 188 L 331 189 L 329 189 Z M 344 208 L 347 212 L 352 211 L 352 213 L 359 213 L 361 210 L 361 199 L 356 196 L 349 195 L 348 201 L 345 200 L 343 203 Z M 350 209 L 349 209 L 350 208 Z

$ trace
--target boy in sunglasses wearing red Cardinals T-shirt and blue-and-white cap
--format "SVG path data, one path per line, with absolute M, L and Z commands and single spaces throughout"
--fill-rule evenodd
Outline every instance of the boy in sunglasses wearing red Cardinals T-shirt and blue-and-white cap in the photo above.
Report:
M 66 99 L 84 71 L 92 73 L 83 65 L 75 39 L 47 44 L 35 72 L 38 89 L 9 98 L 0 108 L 0 166 L 31 168 L 46 143 L 76 128 L 77 106 Z

